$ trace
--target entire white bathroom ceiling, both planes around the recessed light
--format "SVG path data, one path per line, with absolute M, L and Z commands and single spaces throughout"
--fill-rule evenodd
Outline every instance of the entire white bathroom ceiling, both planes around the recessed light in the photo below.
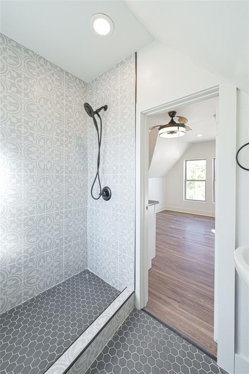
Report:
M 89 82 L 153 39 L 249 91 L 249 1 L 1 0 L 0 31 Z M 89 25 L 96 13 L 110 37 Z

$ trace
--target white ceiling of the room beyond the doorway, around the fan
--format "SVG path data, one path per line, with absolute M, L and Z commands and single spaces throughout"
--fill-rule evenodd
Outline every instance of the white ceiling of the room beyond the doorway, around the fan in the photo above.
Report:
M 179 108 L 172 108 L 177 112 L 176 115 L 188 118 L 187 125 L 192 128 L 192 131 L 187 131 L 186 135 L 180 138 L 167 139 L 157 136 L 149 169 L 150 178 L 165 177 L 193 143 L 215 139 L 216 124 L 213 114 L 216 111 L 217 101 L 218 97 L 214 97 L 198 103 L 182 105 Z M 168 112 L 151 115 L 148 117 L 148 129 L 155 125 L 164 125 L 169 121 Z M 154 134 L 152 132 L 158 133 L 158 129 L 150 132 L 149 142 L 153 143 L 153 147 Z M 199 133 L 203 136 L 196 137 Z

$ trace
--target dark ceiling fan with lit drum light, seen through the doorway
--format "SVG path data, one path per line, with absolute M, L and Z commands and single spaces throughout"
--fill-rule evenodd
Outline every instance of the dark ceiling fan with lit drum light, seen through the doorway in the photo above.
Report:
M 159 136 L 161 136 L 162 138 L 178 138 L 185 135 L 186 131 L 192 130 L 191 127 L 186 126 L 186 123 L 188 122 L 187 118 L 177 115 L 176 117 L 178 118 L 178 122 L 175 122 L 173 118 L 175 117 L 176 112 L 171 111 L 168 112 L 168 114 L 171 117 L 169 123 L 162 126 L 153 126 L 149 129 L 149 131 L 158 128 Z

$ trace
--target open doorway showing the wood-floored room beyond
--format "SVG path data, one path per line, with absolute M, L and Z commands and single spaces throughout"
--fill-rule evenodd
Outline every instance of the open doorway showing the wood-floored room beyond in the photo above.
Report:
M 171 108 L 180 137 L 160 137 L 168 112 L 148 118 L 148 288 L 145 310 L 211 355 L 214 341 L 215 137 L 218 97 Z M 188 122 L 186 122 L 188 120 Z M 172 120 L 171 120 L 172 121 Z M 152 249 L 153 245 L 153 249 Z

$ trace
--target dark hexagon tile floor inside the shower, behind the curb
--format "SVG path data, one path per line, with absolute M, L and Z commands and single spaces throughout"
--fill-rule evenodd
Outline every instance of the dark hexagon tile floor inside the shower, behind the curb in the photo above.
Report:
M 120 294 L 89 270 L 0 316 L 0 374 L 43 374 Z

